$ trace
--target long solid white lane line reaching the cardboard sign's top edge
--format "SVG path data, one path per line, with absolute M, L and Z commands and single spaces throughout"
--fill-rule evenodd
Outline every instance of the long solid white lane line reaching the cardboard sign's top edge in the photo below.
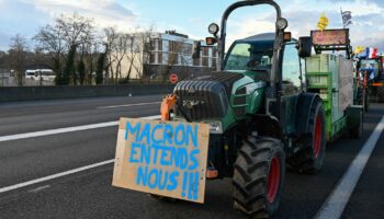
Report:
M 157 118 L 160 118 L 160 116 L 155 115 L 155 116 L 146 116 L 146 117 L 142 117 L 142 118 L 157 119 Z M 10 136 L 1 136 L 0 142 L 10 141 L 10 140 L 20 140 L 20 139 L 25 139 L 25 138 L 35 138 L 35 137 L 42 137 L 42 136 L 50 136 L 50 135 L 57 135 L 57 134 L 66 134 L 66 132 L 72 132 L 72 131 L 79 131 L 79 130 L 104 128 L 104 127 L 111 127 L 111 126 L 116 126 L 116 125 L 118 125 L 118 120 L 108 122 L 108 123 L 99 123 L 99 124 L 90 124 L 90 125 L 83 125 L 83 126 L 74 126 L 74 127 L 67 127 L 67 128 L 41 130 L 41 131 L 26 132 L 26 134 L 16 134 L 16 135 L 10 135 Z

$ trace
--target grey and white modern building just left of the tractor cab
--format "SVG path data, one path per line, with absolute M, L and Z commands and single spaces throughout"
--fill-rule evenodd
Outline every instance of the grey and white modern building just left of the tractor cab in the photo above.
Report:
M 184 79 L 216 69 L 217 49 L 206 47 L 201 42 L 200 58 L 192 58 L 193 48 L 197 41 L 176 31 L 153 33 L 149 42 L 149 58 L 144 64 L 144 78 L 165 79 L 177 73 Z

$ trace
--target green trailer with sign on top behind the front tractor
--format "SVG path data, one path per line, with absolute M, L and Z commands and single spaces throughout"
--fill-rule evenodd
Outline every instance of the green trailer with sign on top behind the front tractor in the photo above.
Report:
M 341 33 L 341 30 L 332 30 L 323 34 Z M 353 61 L 349 56 L 348 30 L 346 44 L 338 45 L 338 49 L 345 49 L 347 56 L 340 54 L 321 54 L 324 50 L 335 49 L 336 45 L 324 45 L 316 42 L 313 33 L 313 43 L 317 55 L 305 59 L 305 78 L 308 92 L 318 93 L 323 100 L 326 112 L 327 140 L 332 141 L 346 131 L 351 137 L 359 138 L 363 130 L 363 106 L 354 105 L 357 93 Z M 323 37 L 325 37 L 323 35 Z M 330 44 L 328 42 L 328 44 Z M 336 44 L 336 43 L 335 43 Z

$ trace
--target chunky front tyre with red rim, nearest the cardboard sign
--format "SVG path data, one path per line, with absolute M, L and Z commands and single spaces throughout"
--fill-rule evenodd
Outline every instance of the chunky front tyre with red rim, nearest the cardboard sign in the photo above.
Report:
M 235 208 L 255 218 L 273 216 L 280 205 L 285 177 L 285 152 L 281 141 L 249 137 L 235 163 Z

